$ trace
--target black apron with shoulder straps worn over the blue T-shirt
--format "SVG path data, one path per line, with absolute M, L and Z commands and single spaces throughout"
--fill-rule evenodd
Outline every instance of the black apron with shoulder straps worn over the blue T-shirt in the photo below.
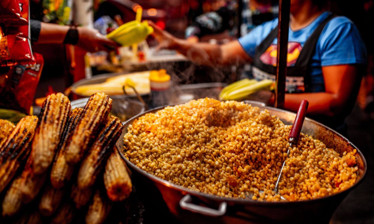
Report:
M 287 93 L 310 93 L 311 87 L 311 59 L 315 53 L 316 43 L 321 35 L 325 25 L 334 18 L 335 15 L 329 15 L 315 31 L 310 35 L 304 44 L 303 49 L 298 56 L 294 66 L 287 66 L 286 76 L 286 92 Z M 275 81 L 276 66 L 268 65 L 261 61 L 261 56 L 268 50 L 273 40 L 278 35 L 278 27 L 274 28 L 270 34 L 258 45 L 255 49 L 254 61 L 252 66 L 253 76 L 257 80 L 269 79 Z M 291 42 L 289 42 L 291 43 Z M 347 126 L 344 122 L 344 117 L 334 117 L 326 115 L 308 115 L 308 117 L 315 119 L 322 124 L 331 127 L 332 129 L 347 136 Z

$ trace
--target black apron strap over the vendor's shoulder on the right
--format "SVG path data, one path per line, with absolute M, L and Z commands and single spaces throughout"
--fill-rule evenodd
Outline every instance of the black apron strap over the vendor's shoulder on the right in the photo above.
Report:
M 304 67 L 308 66 L 312 55 L 315 52 L 316 44 L 321 35 L 322 31 L 324 30 L 326 24 L 336 15 L 331 14 L 329 15 L 318 27 L 313 31 L 312 35 L 306 40 L 303 49 L 300 52 L 299 57 L 296 60 L 295 67 Z

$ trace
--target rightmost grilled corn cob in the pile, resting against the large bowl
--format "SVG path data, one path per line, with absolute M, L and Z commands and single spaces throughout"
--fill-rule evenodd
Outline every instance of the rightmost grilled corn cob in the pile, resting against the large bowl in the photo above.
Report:
M 117 149 L 112 150 L 105 165 L 104 185 L 112 201 L 124 200 L 132 191 L 131 179 Z

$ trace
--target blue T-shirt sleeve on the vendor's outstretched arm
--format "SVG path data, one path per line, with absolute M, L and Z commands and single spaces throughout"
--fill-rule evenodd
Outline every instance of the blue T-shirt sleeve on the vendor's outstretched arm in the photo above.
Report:
M 269 35 L 270 31 L 278 25 L 278 19 L 274 19 L 269 22 L 265 22 L 254 28 L 249 34 L 238 39 L 240 45 L 243 47 L 245 52 L 250 56 L 254 57 L 255 49 L 261 42 Z

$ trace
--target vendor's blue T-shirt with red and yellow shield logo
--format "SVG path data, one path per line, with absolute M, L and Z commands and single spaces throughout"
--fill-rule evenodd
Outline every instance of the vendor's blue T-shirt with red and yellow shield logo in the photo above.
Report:
M 303 29 L 293 31 L 289 29 L 288 34 L 288 66 L 293 66 L 301 49 L 313 31 L 331 13 L 324 12 L 311 24 Z M 239 43 L 250 57 L 254 57 L 256 47 L 278 26 L 278 19 L 266 22 L 253 29 L 249 34 L 239 38 Z M 277 38 L 269 49 L 261 55 L 260 59 L 265 64 L 276 64 Z M 275 51 L 274 51 L 275 47 Z M 267 53 L 267 55 L 265 55 Z M 323 29 L 316 43 L 316 50 L 312 56 L 311 85 L 313 92 L 325 91 L 322 66 L 365 64 L 367 55 L 365 44 L 361 40 L 357 27 L 344 16 L 331 19 Z

